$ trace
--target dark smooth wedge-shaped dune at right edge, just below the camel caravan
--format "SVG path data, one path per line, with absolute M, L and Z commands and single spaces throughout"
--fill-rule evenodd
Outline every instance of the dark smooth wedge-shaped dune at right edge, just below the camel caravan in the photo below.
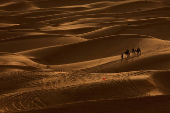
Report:
M 146 62 L 146 65 L 143 65 Z M 123 66 L 106 69 L 102 72 L 122 72 L 122 71 L 137 71 L 137 70 L 169 70 L 169 54 L 155 55 L 140 59 Z

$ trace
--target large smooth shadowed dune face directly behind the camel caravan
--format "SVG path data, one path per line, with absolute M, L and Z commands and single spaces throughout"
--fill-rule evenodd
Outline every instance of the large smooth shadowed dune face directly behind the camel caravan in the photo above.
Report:
M 56 65 L 120 55 L 124 53 L 126 49 L 132 49 L 133 47 L 137 48 L 138 46 L 144 49 L 143 51 L 146 51 L 149 46 L 154 47 L 154 45 L 159 43 L 165 43 L 165 45 L 169 44 L 166 41 L 150 39 L 146 36 L 119 35 L 103 37 L 65 46 L 54 46 L 24 51 L 19 54 L 26 55 L 32 60 L 39 61 L 44 64 Z

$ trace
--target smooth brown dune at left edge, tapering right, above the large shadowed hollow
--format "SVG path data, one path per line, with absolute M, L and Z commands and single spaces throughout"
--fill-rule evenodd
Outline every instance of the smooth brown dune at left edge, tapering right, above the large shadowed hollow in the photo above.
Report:
M 14 53 L 46 46 L 48 47 L 81 42 L 84 40 L 85 39 L 80 37 L 61 37 L 57 35 L 28 35 L 0 41 L 0 50 L 2 52 L 8 51 Z M 9 48 L 8 45 L 11 45 L 11 47 Z M 20 46 L 22 46 L 22 48 L 20 48 Z

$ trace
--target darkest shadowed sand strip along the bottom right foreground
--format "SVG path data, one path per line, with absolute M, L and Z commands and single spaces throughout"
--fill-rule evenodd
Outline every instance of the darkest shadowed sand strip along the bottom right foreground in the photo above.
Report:
M 167 104 L 169 104 L 169 96 L 156 96 L 156 97 L 146 97 L 146 98 L 135 98 L 135 99 L 123 99 L 123 100 L 101 100 L 101 101 L 89 101 L 89 102 L 79 102 L 73 105 L 68 104 L 67 107 L 61 108 L 51 108 L 43 110 L 28 111 L 24 113 L 63 113 L 70 111 L 70 113 L 75 112 L 112 112 L 117 111 L 123 113 L 124 110 L 129 113 L 143 113 L 145 111 L 149 113 L 169 113 Z M 161 101 L 161 103 L 159 103 Z M 121 106 L 121 107 L 120 107 Z M 122 106 L 124 109 L 122 109 Z M 151 107 L 148 109 L 148 106 Z M 156 106 L 159 106 L 155 109 Z M 131 109 L 133 108 L 133 109 Z

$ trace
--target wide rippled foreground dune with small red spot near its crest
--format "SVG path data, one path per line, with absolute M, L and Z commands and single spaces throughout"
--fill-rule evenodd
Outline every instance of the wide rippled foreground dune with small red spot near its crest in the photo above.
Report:
M 22 72 L 18 74 L 22 74 Z M 24 73 L 24 74 L 29 77 L 29 74 L 33 74 L 33 73 Z M 161 76 L 162 74 L 164 75 L 164 77 Z M 67 106 L 69 107 L 79 102 L 86 103 L 88 102 L 87 100 L 89 101 L 94 100 L 95 102 L 97 102 L 97 100 L 99 99 L 113 100 L 114 98 L 123 99 L 123 98 L 134 98 L 139 96 L 145 99 L 147 98 L 147 95 L 152 96 L 152 95 L 163 95 L 166 93 L 169 94 L 168 89 L 166 89 L 166 87 L 169 85 L 169 83 L 166 82 L 168 79 L 168 74 L 169 72 L 166 71 L 146 71 L 146 72 L 137 71 L 137 72 L 120 73 L 120 74 L 110 73 L 104 75 L 103 74 L 94 74 L 94 75 L 79 74 L 78 76 L 61 73 L 61 74 L 52 75 L 50 78 L 49 77 L 46 78 L 44 76 L 43 83 L 41 82 L 41 80 L 37 79 L 37 82 L 39 81 L 40 83 L 37 84 L 36 87 L 40 87 L 46 84 L 45 90 L 36 90 L 36 91 L 30 90 L 29 92 L 22 92 L 22 93 L 9 95 L 9 96 L 4 95 L 4 97 L 1 98 L 1 107 L 3 108 L 2 110 L 4 111 L 20 111 L 20 110 L 39 109 L 42 107 L 48 108 L 49 105 L 50 106 L 56 105 L 56 107 L 63 106 L 67 108 Z M 15 76 L 18 77 L 17 73 Z M 82 76 L 84 76 L 83 84 L 81 82 Z M 103 76 L 107 78 L 106 81 L 102 81 Z M 32 77 L 37 78 L 38 75 L 34 73 L 34 76 Z M 31 79 L 34 79 L 32 77 Z M 63 77 L 63 82 L 58 81 L 59 83 L 55 84 L 53 81 L 58 80 L 57 79 L 58 77 Z M 10 76 L 4 79 L 7 80 L 9 78 Z M 30 78 L 27 78 L 26 80 L 28 79 Z M 21 80 L 22 79 L 20 79 L 20 81 Z M 23 78 L 22 82 L 24 82 L 24 80 L 25 79 Z M 166 82 L 166 84 L 164 84 L 164 81 Z M 9 81 L 8 83 L 10 84 L 10 82 L 12 83 L 13 81 Z M 69 83 L 69 86 L 67 86 L 67 82 L 71 82 Z M 65 87 L 61 88 L 61 86 L 63 86 L 62 84 Z M 48 85 L 52 86 L 53 88 L 48 87 Z M 60 86 L 59 89 L 57 88 L 58 86 Z M 54 87 L 56 87 L 57 89 Z M 160 89 L 161 90 L 164 89 L 164 90 L 161 91 Z M 29 97 L 26 98 L 27 95 L 29 95 Z M 22 100 L 23 98 L 25 98 L 24 101 Z M 4 104 L 4 102 L 7 100 L 9 100 L 10 102 L 8 104 Z M 31 104 L 32 103 L 31 101 L 34 103 L 33 105 Z

